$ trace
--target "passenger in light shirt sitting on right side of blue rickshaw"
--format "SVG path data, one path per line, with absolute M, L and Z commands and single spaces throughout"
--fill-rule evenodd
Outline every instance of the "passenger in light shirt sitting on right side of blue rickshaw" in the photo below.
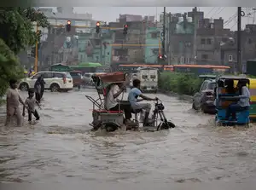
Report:
M 226 119 L 228 120 L 230 118 L 230 114 L 232 113 L 232 119 L 235 120 L 236 119 L 236 112 L 242 111 L 242 110 L 246 110 L 250 107 L 250 91 L 247 88 L 247 82 L 246 81 L 240 81 L 237 84 L 237 87 L 240 91 L 239 97 L 240 100 L 235 103 L 235 104 L 230 104 L 230 106 L 228 107 L 228 110 L 226 112 Z

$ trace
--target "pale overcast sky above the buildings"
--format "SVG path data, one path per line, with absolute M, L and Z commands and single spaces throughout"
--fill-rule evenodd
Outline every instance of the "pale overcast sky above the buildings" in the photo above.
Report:
M 184 13 L 191 11 L 193 7 L 166 7 L 166 12 L 175 13 Z M 200 11 L 205 12 L 205 17 L 217 19 L 222 17 L 225 21 L 228 21 L 225 27 L 229 27 L 232 30 L 236 30 L 236 20 L 232 17 L 236 14 L 236 7 L 199 7 Z M 90 13 L 93 16 L 94 20 L 105 20 L 105 21 L 115 21 L 119 18 L 119 14 L 140 14 L 140 15 L 159 15 L 163 12 L 163 7 L 75 7 L 75 12 L 77 13 Z M 242 27 L 247 23 L 253 24 L 253 9 L 252 8 L 243 8 L 245 14 L 252 13 L 249 17 L 242 18 Z M 255 17 L 255 15 L 254 15 Z M 256 20 L 255 20 L 256 21 Z

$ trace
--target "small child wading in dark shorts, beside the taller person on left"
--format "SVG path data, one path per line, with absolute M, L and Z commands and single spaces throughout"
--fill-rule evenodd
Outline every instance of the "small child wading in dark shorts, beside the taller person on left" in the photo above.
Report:
M 28 113 L 28 121 L 32 121 L 32 114 L 35 116 L 36 120 L 39 120 L 39 114 L 38 111 L 35 108 L 35 105 L 38 104 L 38 107 L 40 108 L 39 102 L 34 98 L 34 90 L 29 89 L 28 90 L 28 97 L 26 98 L 25 105 L 27 107 L 27 113 Z M 25 106 L 23 107 L 23 117 L 26 115 L 25 113 Z

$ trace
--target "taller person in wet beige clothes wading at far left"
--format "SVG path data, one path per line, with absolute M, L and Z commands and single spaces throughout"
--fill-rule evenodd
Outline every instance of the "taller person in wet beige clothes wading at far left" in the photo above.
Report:
M 6 122 L 5 126 L 9 127 L 9 124 L 12 122 L 12 118 L 15 117 L 17 120 L 17 126 L 21 127 L 22 125 L 22 116 L 20 112 L 20 103 L 26 107 L 24 101 L 20 98 L 19 92 L 17 90 L 17 80 L 9 80 L 10 88 L 7 90 L 6 94 Z

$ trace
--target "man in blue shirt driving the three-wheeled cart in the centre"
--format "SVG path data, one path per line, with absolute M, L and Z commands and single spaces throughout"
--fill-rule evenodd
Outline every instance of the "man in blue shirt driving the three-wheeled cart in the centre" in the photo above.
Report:
M 151 109 L 151 104 L 149 103 L 138 103 L 139 101 L 157 101 L 157 98 L 149 98 L 146 95 L 143 95 L 142 91 L 140 90 L 140 85 L 141 81 L 139 79 L 134 79 L 133 80 L 133 88 L 129 92 L 128 95 L 128 101 L 131 103 L 131 108 L 136 111 L 136 110 L 143 110 L 145 111 L 145 118 L 143 125 L 147 125 L 148 123 L 152 123 L 153 121 L 148 118 L 150 109 Z M 141 97 L 142 99 L 137 99 L 138 97 Z

